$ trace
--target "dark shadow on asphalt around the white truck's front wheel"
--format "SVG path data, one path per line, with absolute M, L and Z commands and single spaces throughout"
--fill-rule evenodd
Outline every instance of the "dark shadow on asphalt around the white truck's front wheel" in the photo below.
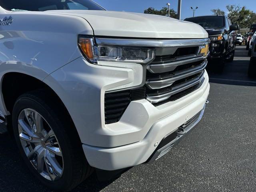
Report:
M 2 126 L 0 124 L 0 126 Z M 0 134 L 0 191 L 33 191 L 50 192 L 36 178 L 30 174 L 24 166 L 14 138 L 9 134 Z M 82 182 L 72 192 L 98 192 L 112 183 L 98 181 L 96 174 L 92 174 L 86 181 Z

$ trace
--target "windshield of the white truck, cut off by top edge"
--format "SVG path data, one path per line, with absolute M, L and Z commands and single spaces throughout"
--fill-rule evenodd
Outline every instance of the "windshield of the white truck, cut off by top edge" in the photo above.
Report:
M 105 10 L 92 0 L 0 0 L 11 11 Z

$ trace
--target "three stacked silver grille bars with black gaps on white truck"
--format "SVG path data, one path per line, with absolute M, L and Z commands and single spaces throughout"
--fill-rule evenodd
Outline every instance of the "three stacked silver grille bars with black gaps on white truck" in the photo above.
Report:
M 177 95 L 188 94 L 204 81 L 206 65 L 203 56 L 194 55 L 173 62 L 152 62 L 147 67 L 146 99 L 157 106 L 178 99 Z

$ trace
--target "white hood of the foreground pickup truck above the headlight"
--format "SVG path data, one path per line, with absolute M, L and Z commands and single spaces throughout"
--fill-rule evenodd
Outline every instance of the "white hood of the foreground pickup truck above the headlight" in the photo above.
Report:
M 92 26 L 96 36 L 168 39 L 208 37 L 207 32 L 200 25 L 166 16 L 97 10 L 47 12 L 82 17 Z

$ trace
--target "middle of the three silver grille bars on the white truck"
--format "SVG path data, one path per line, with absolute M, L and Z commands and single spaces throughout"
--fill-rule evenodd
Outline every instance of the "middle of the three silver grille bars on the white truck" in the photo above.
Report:
M 207 60 L 205 60 L 204 63 L 202 64 L 202 68 L 198 70 L 194 70 L 194 71 L 184 73 L 179 76 L 174 76 L 172 78 L 164 79 L 164 80 L 146 81 L 146 86 L 148 86 L 150 89 L 160 89 L 160 88 L 168 87 L 168 86 L 171 86 L 177 80 L 202 72 L 206 68 L 206 66 L 207 66 Z

